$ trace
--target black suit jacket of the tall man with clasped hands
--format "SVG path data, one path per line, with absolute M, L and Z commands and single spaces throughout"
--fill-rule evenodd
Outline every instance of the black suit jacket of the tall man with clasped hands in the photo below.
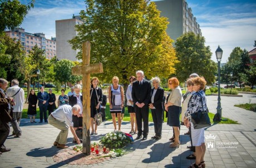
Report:
M 148 105 L 151 97 L 151 83 L 145 79 L 141 86 L 139 85 L 139 81 L 132 83 L 131 96 L 135 104 L 139 102 Z

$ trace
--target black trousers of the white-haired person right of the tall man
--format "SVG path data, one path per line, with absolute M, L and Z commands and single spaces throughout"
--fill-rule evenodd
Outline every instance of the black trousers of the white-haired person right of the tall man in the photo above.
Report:
M 162 126 L 163 126 L 163 110 L 151 109 L 152 118 L 154 122 L 155 135 L 161 137 L 162 135 Z

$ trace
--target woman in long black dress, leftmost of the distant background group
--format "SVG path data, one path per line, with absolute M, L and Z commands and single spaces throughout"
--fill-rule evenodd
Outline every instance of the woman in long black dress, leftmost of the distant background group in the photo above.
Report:
M 35 90 L 31 90 L 28 95 L 28 117 L 30 118 L 30 122 L 36 122 L 36 103 L 37 103 L 37 96 L 35 94 Z M 33 120 L 32 120 L 33 117 Z

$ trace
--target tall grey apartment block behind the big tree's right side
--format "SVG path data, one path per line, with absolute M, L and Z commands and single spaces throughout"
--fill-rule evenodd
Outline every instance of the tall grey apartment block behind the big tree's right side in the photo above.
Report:
M 186 0 L 163 0 L 155 3 L 157 9 L 161 11 L 161 16 L 167 17 L 170 22 L 166 32 L 171 39 L 176 40 L 186 32 L 194 32 L 202 36 L 200 25 L 196 22 L 196 17 Z

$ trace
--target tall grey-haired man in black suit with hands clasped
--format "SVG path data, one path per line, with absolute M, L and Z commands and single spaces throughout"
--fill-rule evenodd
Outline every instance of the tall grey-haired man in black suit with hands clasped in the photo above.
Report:
M 132 84 L 132 101 L 134 101 L 134 108 L 136 114 L 136 122 L 138 128 L 138 136 L 136 140 L 141 138 L 143 133 L 142 140 L 147 139 L 147 134 L 149 134 L 149 101 L 151 97 L 151 84 L 149 81 L 144 79 L 144 72 L 136 72 L 137 81 Z M 143 128 L 142 131 L 142 120 Z

